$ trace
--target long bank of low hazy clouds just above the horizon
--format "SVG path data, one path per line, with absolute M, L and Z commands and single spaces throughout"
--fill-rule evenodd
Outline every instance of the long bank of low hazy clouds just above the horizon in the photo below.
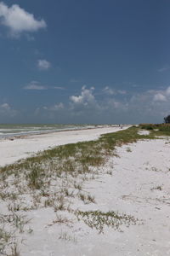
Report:
M 38 108 L 37 116 L 58 122 L 77 123 L 142 123 L 161 122 L 169 114 L 170 86 L 164 90 L 117 92 L 114 95 L 95 94 L 94 87 L 82 87 L 70 101 Z

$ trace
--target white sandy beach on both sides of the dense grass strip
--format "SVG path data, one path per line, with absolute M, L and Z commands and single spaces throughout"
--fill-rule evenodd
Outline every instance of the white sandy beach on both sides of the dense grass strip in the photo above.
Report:
M 9 145 L 14 147 L 15 143 L 16 147 L 18 143 L 13 161 L 20 158 L 17 154 L 24 144 L 22 156 L 26 157 L 26 147 L 32 154 L 43 147 L 61 144 L 61 137 L 63 144 L 73 143 L 96 139 L 102 133 L 116 131 L 114 129 L 69 131 L 1 143 L 8 150 Z M 149 131 L 139 133 L 150 134 Z M 1 145 L 1 152 L 2 148 Z M 20 219 L 26 215 L 30 220 L 15 231 L 17 252 L 20 254 L 13 255 L 170 255 L 169 150 L 168 137 L 125 144 L 116 147 L 115 155 L 107 156 L 105 165 L 92 167 L 92 173 L 77 177 L 61 175 L 57 179 L 50 176 L 51 186 L 41 189 L 41 198 L 37 190 L 33 194 L 23 190 L 22 195 L 15 198 L 14 205 L 0 200 L 0 216 L 5 218 L 12 214 L 11 209 L 15 209 L 14 214 Z M 10 160 L 1 161 L 1 165 Z M 8 177 L 8 186 L 1 184 L 1 193 L 2 188 L 4 193 L 16 191 L 15 183 L 20 189 L 26 184 L 22 174 L 15 176 L 17 178 Z M 42 207 L 44 201 L 45 207 Z M 12 216 L 14 218 L 15 215 Z M 1 226 L 3 218 L 0 218 Z M 7 224 L 7 230 L 11 226 Z

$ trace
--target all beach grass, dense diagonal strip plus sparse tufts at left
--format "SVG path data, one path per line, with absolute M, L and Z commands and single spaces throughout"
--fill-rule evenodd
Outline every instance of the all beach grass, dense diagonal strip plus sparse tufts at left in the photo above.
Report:
M 23 215 L 15 212 L 26 212 L 38 207 L 53 207 L 54 212 L 73 212 L 79 216 L 78 218 L 81 216 L 82 218 L 90 216 L 92 219 L 97 217 L 99 222 L 106 218 L 107 226 L 114 225 L 112 220 L 111 223 L 107 221 L 110 215 L 105 212 L 77 213 L 71 209 L 71 202 L 79 200 L 84 204 L 96 204 L 94 195 L 89 195 L 83 190 L 83 183 L 94 179 L 100 172 L 99 167 L 105 165 L 110 156 L 117 156 L 116 147 L 138 140 L 170 136 L 169 127 L 167 125 L 133 126 L 127 130 L 102 135 L 96 141 L 71 143 L 51 148 L 26 160 L 19 160 L 12 165 L 1 167 L 0 201 L 7 204 L 7 219 L 10 216 L 14 217 L 10 218 L 14 222 L 13 232 L 25 232 L 25 225 L 27 225 Z M 150 134 L 139 134 L 141 129 L 150 130 Z M 112 170 L 105 174 L 111 175 Z M 120 216 L 125 217 L 125 215 Z M 129 219 L 133 220 L 133 217 Z M 4 223 L 0 223 L 0 253 L 5 252 L 5 244 L 10 240 L 3 226 Z M 103 230 L 103 224 L 99 229 Z M 14 243 L 11 242 L 11 244 L 15 247 Z

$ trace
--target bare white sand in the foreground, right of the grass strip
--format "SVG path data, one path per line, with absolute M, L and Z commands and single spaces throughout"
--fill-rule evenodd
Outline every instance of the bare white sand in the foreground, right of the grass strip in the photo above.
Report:
M 94 138 L 99 136 L 91 130 L 83 132 L 87 132 L 84 140 L 91 133 Z M 168 139 L 117 148 L 120 158 L 110 157 L 99 168 L 100 174 L 83 184 L 82 192 L 94 195 L 96 203 L 71 199 L 72 209 L 126 213 L 138 218 L 139 223 L 129 227 L 122 224 L 121 231 L 105 227 L 104 234 L 99 234 L 84 222 L 77 222 L 71 212 L 54 212 L 53 207 L 32 210 L 25 212 L 31 218 L 32 233 L 21 233 L 17 238 L 23 239 L 20 256 L 170 255 L 169 152 Z M 112 176 L 107 172 L 112 172 Z M 1 206 L 0 213 L 3 201 Z M 71 222 L 54 224 L 56 214 Z

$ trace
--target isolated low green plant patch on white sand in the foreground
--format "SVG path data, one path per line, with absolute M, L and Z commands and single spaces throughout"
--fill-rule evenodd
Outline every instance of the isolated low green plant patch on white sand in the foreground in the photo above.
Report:
M 75 212 L 77 219 L 83 220 L 88 227 L 99 230 L 99 233 L 103 232 L 105 226 L 112 227 L 116 230 L 119 226 L 126 224 L 136 224 L 138 219 L 133 216 L 126 214 L 119 214 L 117 212 L 100 212 L 100 211 L 89 211 L 89 212 Z

